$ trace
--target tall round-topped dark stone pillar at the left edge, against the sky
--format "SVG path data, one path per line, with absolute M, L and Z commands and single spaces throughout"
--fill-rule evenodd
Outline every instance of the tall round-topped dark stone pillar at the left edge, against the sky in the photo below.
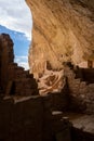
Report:
M 8 67 L 13 63 L 13 41 L 9 35 L 0 35 L 0 84 L 3 90 L 8 84 Z

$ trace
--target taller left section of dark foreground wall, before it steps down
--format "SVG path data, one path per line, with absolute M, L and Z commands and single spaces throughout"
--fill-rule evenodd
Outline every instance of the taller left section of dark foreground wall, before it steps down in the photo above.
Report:
M 0 141 L 46 141 L 44 124 L 51 124 L 48 111 L 40 97 L 0 101 Z M 46 130 L 50 139 L 51 128 Z

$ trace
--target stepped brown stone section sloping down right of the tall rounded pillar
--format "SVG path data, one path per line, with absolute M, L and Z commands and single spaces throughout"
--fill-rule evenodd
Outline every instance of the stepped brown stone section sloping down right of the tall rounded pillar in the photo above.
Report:
M 38 85 L 32 74 L 24 70 L 23 67 L 16 64 L 11 64 L 9 67 L 10 78 L 14 82 L 15 93 L 17 95 L 32 95 L 38 94 Z

